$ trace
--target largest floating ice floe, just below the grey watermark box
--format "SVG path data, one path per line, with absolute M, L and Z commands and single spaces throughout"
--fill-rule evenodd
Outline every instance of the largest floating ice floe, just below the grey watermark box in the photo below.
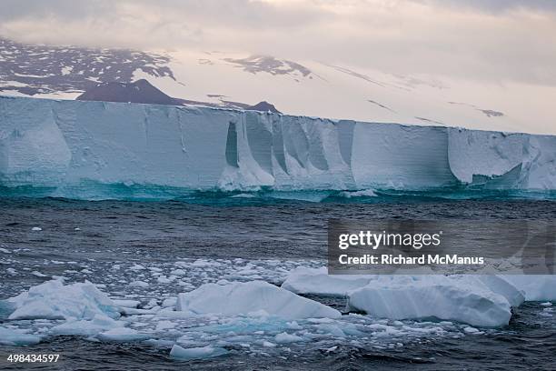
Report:
M 297 294 L 348 296 L 352 310 L 391 319 L 437 317 L 477 326 L 507 325 L 523 293 L 498 276 L 328 275 L 325 267 L 294 269 L 283 288 Z M 439 305 L 429 303 L 439 300 Z

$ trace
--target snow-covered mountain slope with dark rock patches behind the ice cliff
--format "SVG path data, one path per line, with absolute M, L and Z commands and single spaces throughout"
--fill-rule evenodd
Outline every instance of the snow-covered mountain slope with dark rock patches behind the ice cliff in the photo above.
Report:
M 0 40 L 0 95 L 74 99 L 99 83 L 140 79 L 189 105 L 243 108 L 267 101 L 290 115 L 556 134 L 550 86 L 391 75 L 270 55 Z

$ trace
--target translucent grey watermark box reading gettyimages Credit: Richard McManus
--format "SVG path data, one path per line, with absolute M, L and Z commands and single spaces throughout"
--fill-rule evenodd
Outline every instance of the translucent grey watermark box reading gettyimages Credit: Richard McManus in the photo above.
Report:
M 330 220 L 329 274 L 554 274 L 551 222 Z

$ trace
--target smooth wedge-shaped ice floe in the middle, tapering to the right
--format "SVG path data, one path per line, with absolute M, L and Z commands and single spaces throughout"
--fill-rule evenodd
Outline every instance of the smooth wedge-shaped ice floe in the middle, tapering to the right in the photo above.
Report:
M 177 310 L 222 315 L 249 315 L 264 311 L 267 315 L 285 319 L 342 316 L 330 306 L 263 281 L 205 284 L 194 291 L 180 294 Z

